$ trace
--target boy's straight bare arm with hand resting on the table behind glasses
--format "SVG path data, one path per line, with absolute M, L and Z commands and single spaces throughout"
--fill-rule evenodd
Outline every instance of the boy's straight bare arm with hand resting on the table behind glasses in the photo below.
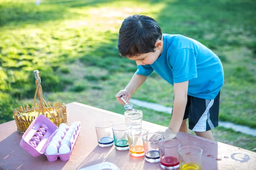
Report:
M 174 102 L 172 119 L 169 124 L 169 128 L 166 129 L 165 137 L 173 139 L 180 130 L 181 123 L 183 121 L 183 116 L 186 109 L 187 103 L 187 93 L 188 93 L 189 81 L 174 83 Z

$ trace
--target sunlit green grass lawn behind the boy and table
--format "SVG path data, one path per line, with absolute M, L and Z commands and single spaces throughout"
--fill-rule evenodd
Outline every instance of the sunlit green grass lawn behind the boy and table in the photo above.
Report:
M 123 113 L 115 94 L 137 67 L 119 57 L 118 31 L 125 17 L 145 14 L 164 33 L 192 37 L 220 57 L 219 119 L 256 128 L 255 8 L 253 0 L 43 0 L 40 6 L 0 0 L 0 123 L 12 120 L 17 106 L 32 104 L 35 69 L 45 99 Z M 153 73 L 133 98 L 172 106 L 173 88 Z M 142 109 L 145 120 L 169 124 L 168 114 Z M 214 133 L 220 142 L 256 147 L 252 136 L 221 127 Z

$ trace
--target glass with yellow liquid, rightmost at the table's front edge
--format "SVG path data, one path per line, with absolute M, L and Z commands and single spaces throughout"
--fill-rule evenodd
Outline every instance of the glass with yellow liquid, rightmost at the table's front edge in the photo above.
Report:
M 180 170 L 201 170 L 203 150 L 197 146 L 183 146 L 178 149 Z

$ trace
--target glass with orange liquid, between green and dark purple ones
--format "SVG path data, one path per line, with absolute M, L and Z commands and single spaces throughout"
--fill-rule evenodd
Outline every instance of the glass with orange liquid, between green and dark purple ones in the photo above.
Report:
M 131 129 L 127 132 L 129 150 L 132 156 L 144 156 L 142 136 L 148 133 L 145 129 Z

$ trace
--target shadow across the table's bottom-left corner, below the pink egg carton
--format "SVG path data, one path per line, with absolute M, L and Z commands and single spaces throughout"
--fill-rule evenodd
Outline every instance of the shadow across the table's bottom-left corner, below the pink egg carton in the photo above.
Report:
M 15 131 L 0 142 L 0 168 L 15 170 L 34 169 L 35 165 L 41 169 L 51 167 L 57 170 L 62 169 L 67 164 L 67 161 L 60 161 L 59 158 L 57 161 L 49 162 L 44 154 L 38 157 L 31 156 L 20 147 L 21 138 L 22 134 Z

